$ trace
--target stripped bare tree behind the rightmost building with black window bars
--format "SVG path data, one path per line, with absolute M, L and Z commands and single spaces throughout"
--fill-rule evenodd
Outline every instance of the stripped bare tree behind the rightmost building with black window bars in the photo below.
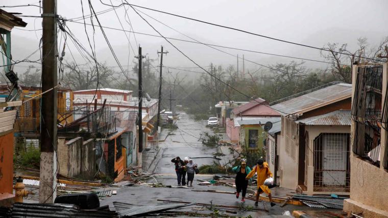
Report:
M 331 63 L 331 72 L 338 80 L 345 83 L 352 83 L 353 63 L 376 64 L 383 60 L 382 53 L 388 44 L 388 37 L 383 38 L 378 46 L 370 47 L 367 38 L 358 38 L 358 48 L 351 52 L 348 44 L 327 43 L 323 48 L 329 51 L 321 50 L 321 56 Z M 388 50 L 388 49 L 387 49 Z

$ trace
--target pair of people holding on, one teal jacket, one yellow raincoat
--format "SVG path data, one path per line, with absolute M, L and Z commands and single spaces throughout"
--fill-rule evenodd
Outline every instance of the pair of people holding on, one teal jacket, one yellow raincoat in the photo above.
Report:
M 251 170 L 251 168 L 247 166 L 247 160 L 241 159 L 240 166 L 234 167 L 232 171 L 236 173 L 235 183 L 237 199 L 240 196 L 240 192 L 242 192 L 241 202 L 245 202 L 248 180 L 251 179 L 255 174 L 257 174 L 257 195 L 255 205 L 258 205 L 259 196 L 262 193 L 268 195 L 271 202 L 271 206 L 275 205 L 275 203 L 272 202 L 270 188 L 275 187 L 276 185 L 273 184 L 274 175 L 271 173 L 267 162 L 264 162 L 263 159 L 259 159 L 256 163 L 256 166 L 254 166 Z

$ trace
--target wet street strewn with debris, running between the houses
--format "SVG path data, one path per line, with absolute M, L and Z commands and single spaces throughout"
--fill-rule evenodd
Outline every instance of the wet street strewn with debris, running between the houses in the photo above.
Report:
M 180 114 L 179 120 L 176 122 L 178 129 L 174 130 L 166 137 L 168 130 L 164 129 L 160 134 L 159 146 L 151 145 L 147 150 L 143 151 L 143 172 L 153 174 L 155 179 L 150 179 L 148 183 L 162 183 L 163 185 L 172 185 L 169 187 L 149 187 L 149 186 L 128 186 L 117 189 L 117 195 L 101 200 L 101 205 L 109 205 L 113 208 L 113 202 L 123 202 L 138 206 L 150 206 L 163 203 L 160 200 L 172 200 L 180 202 L 196 202 L 204 204 L 228 205 L 239 207 L 242 210 L 237 214 L 227 214 L 230 216 L 248 216 L 252 217 L 282 217 L 282 211 L 288 210 L 293 206 L 270 207 L 268 202 L 260 202 L 258 207 L 254 206 L 254 201 L 246 200 L 246 203 L 241 203 L 240 199 L 236 199 L 235 195 L 211 193 L 208 190 L 218 192 L 235 192 L 235 188 L 224 185 L 198 185 L 203 180 L 209 181 L 213 175 L 197 174 L 193 181 L 193 187 L 178 187 L 176 173 L 171 159 L 179 156 L 182 159 L 185 156 L 198 157 L 209 156 L 215 152 L 220 152 L 221 149 L 209 148 L 202 145 L 198 141 L 200 134 L 204 131 L 212 133 L 211 129 L 206 127 L 206 121 L 194 121 L 185 113 Z M 155 150 L 154 150 L 155 149 Z M 156 157 L 155 157 L 156 156 Z M 218 161 L 214 158 L 192 158 L 199 166 L 211 164 L 213 161 Z M 155 181 L 157 180 L 157 181 Z M 201 181 L 199 181 L 201 180 Z M 203 192 L 206 191 L 206 192 Z M 159 200 L 159 201 L 158 201 Z M 244 208 L 256 208 L 259 211 L 252 211 Z M 269 210 L 268 212 L 263 209 Z M 182 208 L 182 211 L 192 211 L 198 208 Z M 193 211 L 194 212 L 194 211 Z M 182 216 L 184 217 L 184 216 Z

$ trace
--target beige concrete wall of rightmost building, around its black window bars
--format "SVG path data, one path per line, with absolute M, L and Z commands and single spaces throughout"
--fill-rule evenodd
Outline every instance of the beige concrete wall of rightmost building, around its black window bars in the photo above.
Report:
M 384 99 L 388 85 L 387 64 L 383 64 L 382 78 L 382 99 Z M 357 67 L 353 66 L 353 84 L 356 82 Z M 353 96 L 355 87 L 353 86 Z M 351 147 L 353 146 L 355 123 L 352 121 Z M 381 128 L 380 155 L 386 148 L 388 132 Z M 351 149 L 352 150 L 352 149 Z M 359 158 L 353 152 L 350 154 L 350 199 L 344 202 L 344 211 L 361 213 L 363 217 L 388 217 L 388 172 L 383 168 L 382 161 L 380 167 L 376 167 L 366 160 Z

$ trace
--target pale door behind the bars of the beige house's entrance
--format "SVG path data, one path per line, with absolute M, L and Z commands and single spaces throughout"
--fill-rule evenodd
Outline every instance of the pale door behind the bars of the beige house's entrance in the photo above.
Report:
M 347 134 L 323 135 L 323 185 L 345 185 Z

